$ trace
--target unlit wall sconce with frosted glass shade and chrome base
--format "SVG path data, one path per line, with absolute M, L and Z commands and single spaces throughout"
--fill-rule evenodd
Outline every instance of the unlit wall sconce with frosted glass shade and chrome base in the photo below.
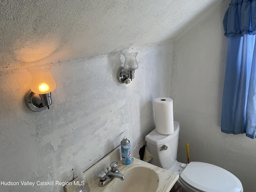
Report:
M 134 78 L 134 70 L 138 68 L 138 62 L 136 60 L 138 52 L 130 52 L 122 54 L 124 56 L 124 67 L 118 70 L 118 80 L 121 83 L 129 84 Z

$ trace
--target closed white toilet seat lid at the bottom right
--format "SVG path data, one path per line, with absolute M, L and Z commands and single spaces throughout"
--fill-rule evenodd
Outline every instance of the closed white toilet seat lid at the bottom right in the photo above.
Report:
M 180 183 L 195 192 L 242 192 L 240 180 L 218 166 L 190 162 L 180 174 Z

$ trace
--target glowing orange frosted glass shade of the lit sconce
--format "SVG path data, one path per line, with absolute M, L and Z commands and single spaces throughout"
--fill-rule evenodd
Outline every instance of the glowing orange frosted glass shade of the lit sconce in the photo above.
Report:
M 45 66 L 28 68 L 32 80 L 30 89 L 37 94 L 46 94 L 52 92 L 56 88 L 56 83 L 51 76 L 52 64 Z

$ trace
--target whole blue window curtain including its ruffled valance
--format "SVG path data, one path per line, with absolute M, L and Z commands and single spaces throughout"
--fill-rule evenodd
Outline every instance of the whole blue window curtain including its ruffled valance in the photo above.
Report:
M 223 20 L 228 37 L 221 131 L 256 138 L 256 0 L 231 0 Z

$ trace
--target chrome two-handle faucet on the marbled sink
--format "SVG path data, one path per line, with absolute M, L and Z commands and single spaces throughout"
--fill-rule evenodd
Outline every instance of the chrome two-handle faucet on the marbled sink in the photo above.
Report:
M 119 172 L 117 167 L 117 161 L 114 161 L 110 163 L 111 171 L 108 171 L 107 173 L 105 171 L 101 171 L 98 174 L 98 178 L 100 178 L 99 186 L 103 187 L 106 184 L 108 184 L 112 179 L 118 178 L 120 180 L 124 180 L 124 175 Z M 107 170 L 109 167 L 107 167 Z

